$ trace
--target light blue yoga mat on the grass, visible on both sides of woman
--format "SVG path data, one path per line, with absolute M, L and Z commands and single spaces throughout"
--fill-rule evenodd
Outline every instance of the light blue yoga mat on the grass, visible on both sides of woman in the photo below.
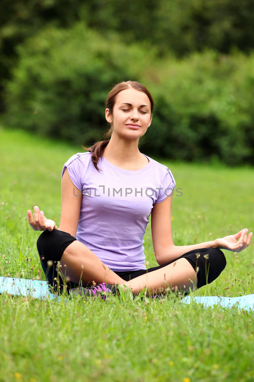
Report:
M 58 300 L 58 296 L 50 293 L 46 281 L 27 280 L 24 278 L 0 277 L 0 293 L 7 292 L 11 295 L 33 296 L 35 298 Z M 254 311 L 254 294 L 239 297 L 202 296 L 193 297 L 192 301 L 203 304 L 205 307 L 219 305 L 223 308 L 240 308 Z M 190 296 L 181 299 L 181 303 L 190 304 Z

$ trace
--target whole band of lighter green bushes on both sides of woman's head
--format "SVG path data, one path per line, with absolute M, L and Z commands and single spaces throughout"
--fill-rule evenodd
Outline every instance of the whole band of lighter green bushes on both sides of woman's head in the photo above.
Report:
M 140 139 L 148 155 L 254 164 L 254 54 L 213 51 L 158 59 L 147 44 L 125 45 L 78 23 L 47 28 L 19 47 L 6 83 L 5 125 L 93 144 L 107 127 L 105 99 L 119 81 L 140 81 L 155 99 Z

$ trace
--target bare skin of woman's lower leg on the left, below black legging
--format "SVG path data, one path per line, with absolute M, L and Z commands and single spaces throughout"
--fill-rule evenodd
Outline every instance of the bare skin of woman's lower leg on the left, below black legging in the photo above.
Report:
M 83 286 L 92 285 L 93 281 L 96 284 L 102 282 L 123 284 L 125 282 L 78 240 L 73 241 L 65 248 L 60 264 L 61 272 L 65 278 L 78 284 L 81 277 Z

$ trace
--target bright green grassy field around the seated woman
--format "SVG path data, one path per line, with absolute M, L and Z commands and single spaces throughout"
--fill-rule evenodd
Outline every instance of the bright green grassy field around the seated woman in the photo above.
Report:
M 82 149 L 0 129 L 0 152 L 0 275 L 45 280 L 36 248 L 41 232 L 30 228 L 27 209 L 39 206 L 59 226 L 62 167 Z M 242 228 L 253 232 L 253 168 L 160 161 L 183 193 L 173 197 L 174 244 L 202 243 Z M 144 240 L 149 266 L 157 265 L 150 223 Z M 237 256 L 224 254 L 225 270 L 193 296 L 254 293 L 253 240 Z M 0 312 L 1 382 L 254 380 L 254 312 L 237 306 L 205 309 L 178 299 L 115 296 L 107 303 L 57 303 L 3 294 Z

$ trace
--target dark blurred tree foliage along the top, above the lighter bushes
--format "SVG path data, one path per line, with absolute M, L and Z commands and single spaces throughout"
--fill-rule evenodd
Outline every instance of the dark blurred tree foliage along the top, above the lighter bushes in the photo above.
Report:
M 16 50 L 45 26 L 71 28 L 81 21 L 103 37 L 116 32 L 125 43 L 147 42 L 159 57 L 211 48 L 249 53 L 254 46 L 251 0 L 2 0 L 0 2 L 0 91 L 19 61 Z M 63 48 L 64 49 L 64 48 Z M 0 94 L 0 111 L 5 99 Z

